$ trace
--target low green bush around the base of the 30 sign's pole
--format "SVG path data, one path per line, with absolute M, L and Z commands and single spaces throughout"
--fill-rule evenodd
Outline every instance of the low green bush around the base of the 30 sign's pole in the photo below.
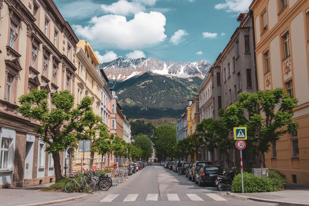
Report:
M 242 192 L 241 174 L 235 176 L 233 180 L 232 192 Z M 275 192 L 285 189 L 286 176 L 277 170 L 269 170 L 269 178 L 255 176 L 254 174 L 243 172 L 243 192 Z

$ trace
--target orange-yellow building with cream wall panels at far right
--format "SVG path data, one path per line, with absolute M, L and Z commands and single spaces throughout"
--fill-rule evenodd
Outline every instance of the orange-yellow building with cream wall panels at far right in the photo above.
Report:
M 309 1 L 255 0 L 250 9 L 259 89 L 282 87 L 299 101 L 297 132 L 272 145 L 266 166 L 286 174 L 288 183 L 309 184 Z

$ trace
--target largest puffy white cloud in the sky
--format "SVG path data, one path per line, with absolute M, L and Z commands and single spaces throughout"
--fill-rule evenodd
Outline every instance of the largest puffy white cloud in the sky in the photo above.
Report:
M 162 42 L 166 19 L 159 12 L 138 12 L 127 21 L 125 16 L 104 15 L 93 17 L 90 26 L 73 25 L 75 33 L 101 47 L 113 46 L 121 49 L 140 49 Z

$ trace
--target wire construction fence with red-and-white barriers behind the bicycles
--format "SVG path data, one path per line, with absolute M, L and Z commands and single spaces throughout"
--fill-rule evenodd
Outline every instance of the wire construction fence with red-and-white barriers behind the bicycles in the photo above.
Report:
M 129 159 L 125 158 L 66 158 L 65 176 L 86 173 L 88 171 L 104 171 L 113 184 L 121 183 L 128 177 Z

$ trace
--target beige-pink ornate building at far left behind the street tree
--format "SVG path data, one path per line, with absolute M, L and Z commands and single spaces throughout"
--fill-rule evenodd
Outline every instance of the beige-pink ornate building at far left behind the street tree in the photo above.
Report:
M 55 180 L 52 155 L 23 118 L 18 97 L 31 88 L 74 91 L 78 38 L 52 0 L 0 0 L 0 185 L 24 187 Z M 60 163 L 63 164 L 63 157 Z

